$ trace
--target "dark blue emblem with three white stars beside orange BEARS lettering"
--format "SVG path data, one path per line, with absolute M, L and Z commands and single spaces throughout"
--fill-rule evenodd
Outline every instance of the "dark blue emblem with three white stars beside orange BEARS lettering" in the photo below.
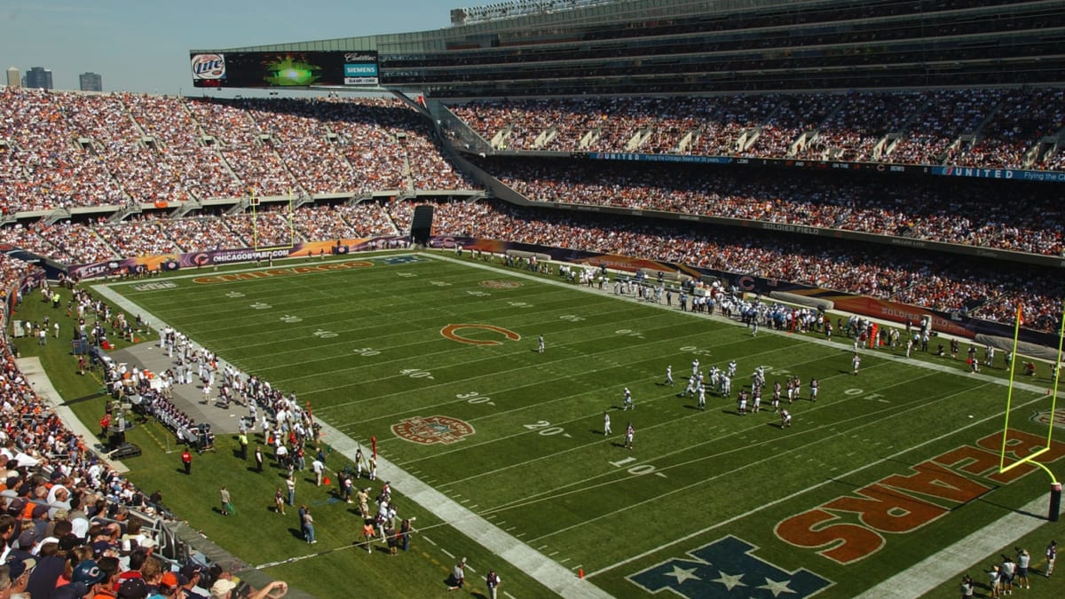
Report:
M 681 597 L 754 597 L 801 599 L 833 583 L 805 568 L 788 572 L 751 555 L 757 549 L 732 535 L 689 551 L 692 560 L 670 560 L 626 577 L 650 593 L 672 590 Z

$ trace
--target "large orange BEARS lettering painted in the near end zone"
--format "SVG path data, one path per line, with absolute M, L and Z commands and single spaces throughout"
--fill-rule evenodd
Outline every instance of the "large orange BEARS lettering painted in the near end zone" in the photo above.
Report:
M 1046 447 L 1046 439 L 1010 431 L 1006 463 L 1023 459 Z M 776 524 L 776 536 L 797 547 L 851 564 L 872 555 L 884 546 L 882 533 L 908 533 L 994 489 L 968 475 L 990 483 L 1007 484 L 1032 472 L 1032 464 L 999 472 L 1002 433 L 988 435 L 977 447 L 957 449 L 913 466 L 913 474 L 892 474 L 818 507 L 786 518 Z M 1035 459 L 1042 464 L 1065 456 L 1065 443 L 1051 441 L 1050 451 Z M 843 515 L 856 515 L 842 521 Z

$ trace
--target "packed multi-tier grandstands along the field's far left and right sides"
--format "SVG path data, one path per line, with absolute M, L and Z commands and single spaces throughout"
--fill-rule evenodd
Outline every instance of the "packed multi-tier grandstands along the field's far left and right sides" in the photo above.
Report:
M 1019 303 L 1027 326 L 1053 330 L 1061 290 L 1056 277 L 1037 266 L 742 227 L 545 211 L 537 204 L 1061 256 L 1065 221 L 1054 184 L 930 177 L 884 184 L 885 175 L 875 171 L 752 176 L 710 165 L 590 163 L 580 157 L 636 151 L 1053 171 L 1065 167 L 1060 144 L 1047 143 L 1065 124 L 1062 93 L 464 101 L 450 107 L 470 126 L 457 135 L 437 134 L 429 119 L 396 99 L 218 100 L 9 88 L 0 106 L 0 194 L 6 198 L 0 241 L 84 264 L 395 236 L 408 231 L 413 204 L 431 200 L 435 234 L 687 263 L 985 320 L 1009 321 Z M 470 139 L 470 131 L 510 149 L 453 160 L 447 140 Z M 527 206 L 491 199 L 484 174 Z M 1003 194 L 1020 201 L 1003 203 Z M 249 197 L 295 201 L 264 203 L 252 215 Z

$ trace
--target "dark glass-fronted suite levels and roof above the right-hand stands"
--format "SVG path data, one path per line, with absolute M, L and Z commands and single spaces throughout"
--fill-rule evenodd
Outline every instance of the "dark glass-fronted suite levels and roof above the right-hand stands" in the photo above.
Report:
M 447 97 L 1065 83 L 1060 0 L 524 0 L 432 31 L 196 50 L 376 53 Z

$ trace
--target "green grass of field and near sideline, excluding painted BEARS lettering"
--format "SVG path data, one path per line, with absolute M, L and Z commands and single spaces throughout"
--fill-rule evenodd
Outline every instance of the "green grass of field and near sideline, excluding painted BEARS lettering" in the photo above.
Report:
M 950 365 L 955 373 L 866 356 L 862 374 L 854 377 L 849 374 L 849 344 L 839 339 L 839 330 L 841 342 L 833 346 L 765 330 L 752 338 L 742 327 L 618 301 L 608 293 L 543 285 L 517 273 L 438 261 L 376 261 L 364 269 L 216 285 L 173 278 L 177 289 L 136 292 L 127 287 L 122 293 L 232 363 L 296 391 L 301 401 L 312 402 L 317 418 L 353 438 L 365 442 L 375 435 L 389 459 L 456 501 L 476 505 L 474 512 L 505 522 L 501 528 L 515 527 L 513 534 L 556 561 L 580 564 L 592 573 L 646 552 L 594 577 L 617 596 L 639 592 L 626 576 L 726 533 L 759 546 L 759 555 L 782 567 L 805 566 L 835 581 L 826 596 L 849 596 L 1045 491 L 1039 473 L 996 486 L 919 531 L 889 535 L 884 549 L 850 566 L 783 544 L 773 534 L 777 521 L 1001 430 L 996 415 L 1004 406 L 1004 388 L 965 374 L 965 343 L 956 361 L 921 353 L 912 358 Z M 485 280 L 522 286 L 479 285 Z M 506 327 L 522 340 L 459 344 L 440 335 L 443 326 L 455 323 Z M 462 334 L 502 339 L 478 329 Z M 547 342 L 542 355 L 535 352 L 538 335 Z M 693 399 L 675 396 L 693 357 L 700 357 L 704 370 L 734 358 L 739 362 L 734 399 L 756 365 L 768 367 L 770 386 L 788 373 L 802 375 L 804 398 L 810 376 L 818 377 L 821 398 L 817 404 L 792 406 L 796 421 L 787 431 L 775 426 L 771 414 L 737 416 L 733 400 L 708 396 L 707 411 L 701 412 L 693 409 Z M 56 358 L 56 366 L 65 368 L 69 359 Z M 673 366 L 675 389 L 660 386 L 667 363 Z M 619 411 L 624 387 L 636 399 L 632 412 Z M 1033 393 L 1015 392 L 1017 414 L 1041 407 L 1034 399 Z M 767 391 L 764 409 L 768 401 Z M 84 402 L 86 407 L 92 403 Z M 613 442 L 600 434 L 604 410 L 611 410 Z M 99 407 L 86 420 L 93 427 L 98 412 Z M 433 415 L 460 418 L 476 433 L 453 444 L 416 446 L 389 432 L 405 418 Z M 616 444 L 629 419 L 637 430 L 633 452 Z M 1027 418 L 1016 418 L 1014 426 L 1038 432 Z M 131 440 L 150 448 L 149 432 L 155 439 L 166 438 L 161 430 L 144 427 L 131 432 Z M 251 564 L 307 552 L 293 535 L 295 518 L 266 509 L 274 487 L 283 482 L 277 471 L 245 473 L 243 465 L 234 464 L 233 449 L 231 440 L 219 439 L 216 455 L 197 457 L 194 488 L 178 473 L 176 454 L 161 451 L 131 460 L 131 477 L 146 491 L 163 489 L 176 513 Z M 213 513 L 220 481 L 236 489 L 236 518 Z M 758 511 L 788 496 L 794 497 Z M 322 491 L 302 483 L 297 502 L 307 499 L 325 501 Z M 419 516 L 416 525 L 424 534 L 448 547 L 465 544 L 464 550 L 449 550 L 470 554 L 472 564 L 496 567 L 510 593 L 545 593 L 461 535 L 437 529 L 410 502 L 399 501 L 404 514 Z M 321 539 L 315 549 L 345 547 L 358 535 L 356 518 L 345 507 L 315 506 Z M 248 518 L 261 525 L 248 527 Z M 725 521 L 726 527 L 714 528 Z M 702 530 L 706 532 L 685 544 L 670 545 Z M 656 551 L 660 546 L 667 547 Z M 390 560 L 381 554 L 366 568 L 360 565 L 364 585 L 356 584 L 367 592 L 439 590 L 449 560 L 417 537 L 415 547 L 417 555 Z M 335 589 L 346 588 L 338 585 L 351 581 L 349 572 L 337 580 L 332 573 L 347 570 L 343 565 L 351 551 L 377 557 L 343 549 L 272 568 L 272 573 L 283 571 L 280 578 L 297 586 L 337 596 Z M 398 580 L 389 565 L 409 567 L 419 560 L 424 564 L 416 573 Z

